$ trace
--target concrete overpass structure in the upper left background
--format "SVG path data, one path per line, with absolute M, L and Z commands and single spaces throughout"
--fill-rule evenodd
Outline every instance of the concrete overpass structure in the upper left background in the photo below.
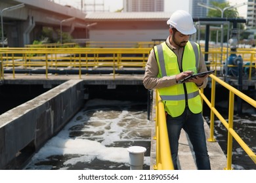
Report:
M 21 4 L 24 7 L 8 9 Z M 53 37 L 58 36 L 58 29 L 70 33 L 74 39 L 84 39 L 87 33 L 85 13 L 49 0 L 1 0 L 0 14 L 3 19 L 1 28 L 9 47 L 31 44 L 32 40 L 40 37 L 44 26 L 53 27 Z

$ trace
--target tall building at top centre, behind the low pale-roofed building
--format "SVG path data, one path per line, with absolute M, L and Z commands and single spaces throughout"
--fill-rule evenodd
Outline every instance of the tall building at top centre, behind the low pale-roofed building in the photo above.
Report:
M 123 0 L 124 12 L 163 12 L 163 0 Z

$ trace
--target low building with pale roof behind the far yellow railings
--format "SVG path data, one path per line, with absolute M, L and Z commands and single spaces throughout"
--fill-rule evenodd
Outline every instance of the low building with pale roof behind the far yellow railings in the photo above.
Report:
M 166 21 L 172 12 L 98 12 L 85 16 L 89 40 L 100 42 L 163 41 L 169 36 Z

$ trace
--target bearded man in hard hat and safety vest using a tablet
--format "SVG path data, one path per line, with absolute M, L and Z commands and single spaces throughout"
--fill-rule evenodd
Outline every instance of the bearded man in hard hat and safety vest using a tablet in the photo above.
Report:
M 205 88 L 207 76 L 181 80 L 193 73 L 207 71 L 200 46 L 188 41 L 196 33 L 192 16 L 177 10 L 167 21 L 169 37 L 150 51 L 143 78 L 144 87 L 158 89 L 167 113 L 167 130 L 175 169 L 181 129 L 188 134 L 196 155 L 198 169 L 211 169 L 205 131 L 202 103 L 198 88 Z

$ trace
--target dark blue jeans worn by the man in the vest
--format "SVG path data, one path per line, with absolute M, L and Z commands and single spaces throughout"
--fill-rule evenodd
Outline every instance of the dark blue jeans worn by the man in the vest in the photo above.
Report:
M 202 113 L 193 114 L 188 108 L 184 110 L 181 116 L 176 118 L 173 118 L 167 114 L 167 130 L 174 168 L 178 169 L 177 154 L 179 149 L 179 137 L 181 135 L 182 128 L 184 131 L 186 131 L 190 142 L 192 143 L 198 169 L 210 170 L 211 165 L 205 141 Z

